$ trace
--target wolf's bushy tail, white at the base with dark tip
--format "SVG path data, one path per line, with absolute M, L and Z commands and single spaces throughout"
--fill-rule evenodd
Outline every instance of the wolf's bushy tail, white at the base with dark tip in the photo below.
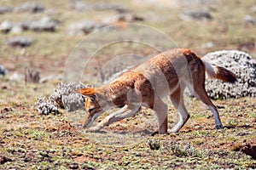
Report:
M 206 71 L 207 71 L 207 75 L 210 78 L 217 78 L 219 80 L 222 80 L 223 82 L 236 82 L 236 75 L 231 72 L 228 71 L 227 69 L 221 67 L 221 66 L 217 66 L 217 65 L 212 65 L 210 63 L 208 63 L 207 61 L 204 61 L 204 64 L 206 66 Z

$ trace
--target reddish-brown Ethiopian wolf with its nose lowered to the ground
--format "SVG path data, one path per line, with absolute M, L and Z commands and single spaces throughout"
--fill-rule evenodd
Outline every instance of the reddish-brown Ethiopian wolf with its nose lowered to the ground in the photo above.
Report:
M 85 96 L 86 114 L 83 126 L 90 127 L 88 130 L 95 132 L 113 122 L 137 114 L 141 107 L 145 106 L 152 109 L 157 116 L 158 133 L 167 133 L 168 107 L 162 99 L 169 97 L 180 118 L 171 132 L 178 132 L 189 120 L 189 112 L 183 102 L 183 90 L 187 87 L 212 111 L 215 127 L 223 128 L 218 110 L 205 89 L 206 72 L 208 77 L 224 82 L 236 82 L 234 73 L 207 63 L 189 49 L 177 48 L 158 54 L 125 71 L 107 85 L 77 90 Z M 91 127 L 98 116 L 114 107 L 121 109 Z

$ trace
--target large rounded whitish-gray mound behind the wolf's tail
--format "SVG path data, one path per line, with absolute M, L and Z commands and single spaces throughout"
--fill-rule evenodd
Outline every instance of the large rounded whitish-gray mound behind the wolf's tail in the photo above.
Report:
M 237 77 L 234 84 L 207 78 L 207 93 L 212 99 L 256 97 L 256 60 L 249 54 L 224 50 L 209 53 L 203 59 L 233 71 Z

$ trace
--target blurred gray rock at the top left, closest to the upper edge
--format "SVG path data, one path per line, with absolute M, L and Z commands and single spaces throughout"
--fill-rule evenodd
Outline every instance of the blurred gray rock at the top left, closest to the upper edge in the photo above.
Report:
M 31 13 L 41 13 L 44 11 L 44 6 L 36 2 L 26 2 L 21 3 L 19 6 L 13 9 L 14 12 L 31 12 Z

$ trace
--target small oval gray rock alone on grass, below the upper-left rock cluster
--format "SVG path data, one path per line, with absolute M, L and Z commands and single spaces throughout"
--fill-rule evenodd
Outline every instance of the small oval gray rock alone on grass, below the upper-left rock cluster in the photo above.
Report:
M 6 43 L 12 47 L 28 47 L 32 44 L 33 39 L 31 37 L 12 37 Z

